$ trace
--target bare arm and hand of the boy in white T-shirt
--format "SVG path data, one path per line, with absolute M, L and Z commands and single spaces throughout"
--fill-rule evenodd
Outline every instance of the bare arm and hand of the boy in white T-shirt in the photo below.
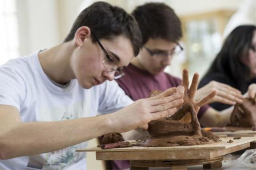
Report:
M 56 122 L 22 123 L 16 107 L 0 105 L 0 159 L 51 152 L 109 132 L 126 132 L 172 115 L 184 93 L 171 88 L 107 115 Z

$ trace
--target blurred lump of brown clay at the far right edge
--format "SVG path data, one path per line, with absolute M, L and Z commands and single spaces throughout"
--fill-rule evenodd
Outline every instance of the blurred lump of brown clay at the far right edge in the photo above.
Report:
M 256 126 L 256 103 L 253 99 L 244 98 L 242 104 L 236 104 L 230 117 L 231 126 Z

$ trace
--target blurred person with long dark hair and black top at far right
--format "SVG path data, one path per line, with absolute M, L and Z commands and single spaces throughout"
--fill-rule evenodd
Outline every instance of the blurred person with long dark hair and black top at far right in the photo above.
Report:
M 235 28 L 226 38 L 220 52 L 202 78 L 199 88 L 211 81 L 217 81 L 234 87 L 254 98 L 256 93 L 256 35 L 255 25 L 244 25 Z M 230 93 L 227 89 L 222 91 Z M 214 109 L 222 111 L 230 107 L 223 103 L 210 104 Z

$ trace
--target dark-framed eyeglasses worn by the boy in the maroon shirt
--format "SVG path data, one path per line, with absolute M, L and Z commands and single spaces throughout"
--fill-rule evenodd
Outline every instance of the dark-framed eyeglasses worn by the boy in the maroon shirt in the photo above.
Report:
M 152 56 L 152 57 L 168 57 L 170 56 L 174 56 L 179 54 L 181 51 L 183 51 L 183 47 L 180 45 L 180 43 L 177 42 L 177 45 L 175 47 L 174 50 L 172 51 L 152 51 L 151 49 L 147 48 L 144 46 L 144 48 L 148 51 L 148 53 Z

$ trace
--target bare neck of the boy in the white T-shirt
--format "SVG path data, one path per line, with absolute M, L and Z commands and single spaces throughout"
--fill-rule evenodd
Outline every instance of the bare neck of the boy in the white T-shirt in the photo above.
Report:
M 74 43 L 70 41 L 38 53 L 44 73 L 56 83 L 66 84 L 71 79 L 75 79 L 70 66 L 70 58 L 75 47 Z

